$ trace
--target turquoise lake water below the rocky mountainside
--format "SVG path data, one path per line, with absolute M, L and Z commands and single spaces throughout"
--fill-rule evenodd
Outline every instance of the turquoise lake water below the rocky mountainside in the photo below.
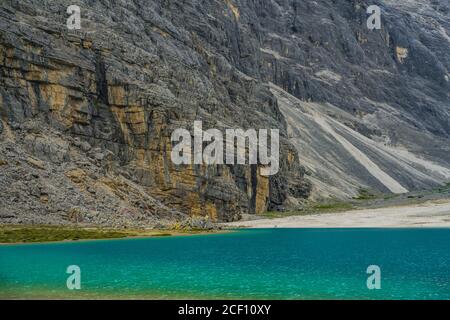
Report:
M 81 268 L 81 291 L 66 268 Z M 368 290 L 369 265 L 381 290 Z M 0 246 L 0 297 L 450 299 L 450 229 L 267 229 Z

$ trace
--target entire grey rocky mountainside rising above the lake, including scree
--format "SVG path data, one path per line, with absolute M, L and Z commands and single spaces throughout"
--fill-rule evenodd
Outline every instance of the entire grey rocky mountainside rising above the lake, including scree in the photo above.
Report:
M 374 3 L 382 30 L 357 0 L 80 0 L 69 31 L 72 1 L 2 1 L 0 222 L 231 221 L 299 207 L 311 183 L 450 180 L 448 2 Z M 194 120 L 280 129 L 280 172 L 175 166 Z

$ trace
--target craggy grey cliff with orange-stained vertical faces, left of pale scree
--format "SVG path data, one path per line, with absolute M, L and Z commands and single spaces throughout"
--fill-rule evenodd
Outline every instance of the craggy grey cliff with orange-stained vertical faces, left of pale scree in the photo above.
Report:
M 120 6 L 108 14 L 102 5 L 81 6 L 85 29 L 72 32 L 61 27 L 64 1 L 2 4 L 2 117 L 62 133 L 50 138 L 25 130 L 27 152 L 55 165 L 71 163 L 65 140 L 81 137 L 99 151 L 75 144 L 107 166 L 108 174 L 129 177 L 164 205 L 191 216 L 231 221 L 279 206 L 283 197 L 272 194 L 286 198 L 289 189 L 270 181 L 288 184 L 296 177 L 300 183 L 298 161 L 268 179 L 259 168 L 175 166 L 170 160 L 171 133 L 192 129 L 194 120 L 202 120 L 205 130 L 280 128 L 285 136 L 269 89 L 210 52 L 189 25 L 171 25 L 158 13 L 162 4 L 132 5 L 124 17 L 122 9 L 129 9 Z M 113 27 L 119 20 L 123 28 Z M 291 152 L 285 137 L 281 148 Z M 102 149 L 113 155 L 107 163 Z

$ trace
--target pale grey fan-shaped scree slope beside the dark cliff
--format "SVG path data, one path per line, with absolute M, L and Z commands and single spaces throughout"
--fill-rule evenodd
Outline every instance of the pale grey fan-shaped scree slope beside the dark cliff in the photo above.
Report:
M 273 86 L 288 123 L 290 141 L 311 172 L 316 197 L 348 198 L 358 188 L 406 193 L 441 185 L 450 178 L 445 165 L 426 160 L 402 146 L 370 139 L 336 120 L 360 123 L 331 104 L 303 102 Z

